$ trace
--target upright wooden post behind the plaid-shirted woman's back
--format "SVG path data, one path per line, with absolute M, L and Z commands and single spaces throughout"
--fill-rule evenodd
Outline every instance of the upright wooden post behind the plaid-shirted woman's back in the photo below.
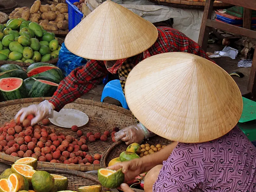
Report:
M 208 44 L 208 37 L 210 28 L 206 26 L 206 21 L 212 19 L 212 7 L 213 7 L 214 0 L 206 0 L 204 5 L 204 14 L 202 18 L 198 44 L 202 47 L 202 49 L 206 52 L 207 44 Z

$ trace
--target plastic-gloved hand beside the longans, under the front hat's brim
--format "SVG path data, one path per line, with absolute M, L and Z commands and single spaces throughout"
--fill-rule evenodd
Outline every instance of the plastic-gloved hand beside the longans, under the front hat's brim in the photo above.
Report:
M 149 137 L 155 135 L 148 131 L 146 127 L 144 127 L 141 123 L 136 125 L 131 125 L 126 127 L 119 132 L 115 133 L 115 140 L 122 140 L 126 145 L 130 145 L 132 143 L 141 143 L 144 138 L 148 139 Z

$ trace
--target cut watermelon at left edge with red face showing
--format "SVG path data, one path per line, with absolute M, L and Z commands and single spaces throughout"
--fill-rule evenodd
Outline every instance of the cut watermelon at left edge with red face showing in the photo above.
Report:
M 0 92 L 5 101 L 28 97 L 23 80 L 17 77 L 0 79 Z

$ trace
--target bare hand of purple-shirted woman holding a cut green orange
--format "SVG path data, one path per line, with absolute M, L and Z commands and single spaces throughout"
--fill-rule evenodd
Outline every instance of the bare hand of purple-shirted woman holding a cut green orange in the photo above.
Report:
M 112 170 L 118 170 L 123 168 L 124 182 L 130 181 L 138 176 L 140 173 L 145 172 L 141 159 L 133 159 L 131 161 L 118 163 L 107 168 Z

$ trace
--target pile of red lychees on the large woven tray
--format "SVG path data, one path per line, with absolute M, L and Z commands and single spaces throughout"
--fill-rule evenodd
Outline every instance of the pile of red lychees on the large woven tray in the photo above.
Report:
M 75 139 L 71 135 L 58 134 L 54 128 L 49 128 L 49 119 L 43 119 L 43 125 L 30 126 L 33 118 L 33 115 L 28 115 L 22 124 L 19 118 L 16 122 L 12 119 L 0 127 L 0 152 L 20 158 L 34 157 L 42 162 L 100 164 L 100 154 L 91 156 L 86 153 L 87 138 L 81 130 L 77 130 L 80 139 Z

